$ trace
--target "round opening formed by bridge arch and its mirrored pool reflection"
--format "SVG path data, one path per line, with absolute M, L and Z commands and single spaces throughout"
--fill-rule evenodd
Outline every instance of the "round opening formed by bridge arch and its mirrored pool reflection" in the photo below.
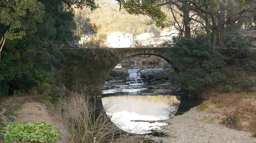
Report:
M 102 104 L 111 121 L 120 129 L 138 134 L 151 133 L 151 129 L 166 125 L 154 121 L 175 115 L 180 96 L 170 95 L 167 91 L 171 90 L 168 79 L 173 70 L 163 69 L 169 64 L 165 59 L 151 53 L 128 54 L 113 66 L 103 87 Z

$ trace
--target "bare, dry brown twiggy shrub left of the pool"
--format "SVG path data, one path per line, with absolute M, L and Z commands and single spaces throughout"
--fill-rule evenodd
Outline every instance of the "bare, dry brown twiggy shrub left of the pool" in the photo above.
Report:
M 131 134 L 117 128 L 105 112 L 97 111 L 95 102 L 86 97 L 70 93 L 56 107 L 56 115 L 70 134 L 70 143 L 93 143 L 94 137 L 97 143 L 134 143 Z

